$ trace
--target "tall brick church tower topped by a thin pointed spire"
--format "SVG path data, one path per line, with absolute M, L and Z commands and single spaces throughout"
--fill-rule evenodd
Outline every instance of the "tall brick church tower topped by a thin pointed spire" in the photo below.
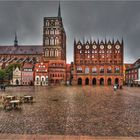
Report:
M 63 27 L 60 2 L 56 17 L 44 17 L 43 60 L 66 61 L 66 33 Z

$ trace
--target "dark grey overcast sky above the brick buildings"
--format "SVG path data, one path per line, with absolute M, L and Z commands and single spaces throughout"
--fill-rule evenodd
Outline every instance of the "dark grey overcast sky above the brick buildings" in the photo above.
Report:
M 0 1 L 0 45 L 42 45 L 43 17 L 57 16 L 58 1 Z M 74 37 L 124 39 L 124 62 L 140 57 L 140 1 L 61 1 L 67 35 L 67 62 L 73 60 Z

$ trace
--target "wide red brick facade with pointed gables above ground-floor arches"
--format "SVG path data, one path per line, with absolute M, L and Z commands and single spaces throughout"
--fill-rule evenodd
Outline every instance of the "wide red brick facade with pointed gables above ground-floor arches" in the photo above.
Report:
M 123 84 L 123 40 L 74 41 L 74 85 Z

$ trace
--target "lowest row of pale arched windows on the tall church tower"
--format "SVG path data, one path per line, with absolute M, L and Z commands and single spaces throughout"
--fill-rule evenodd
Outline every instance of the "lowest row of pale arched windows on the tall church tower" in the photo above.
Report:
M 45 50 L 45 57 L 58 57 L 58 50 L 57 49 L 46 49 Z

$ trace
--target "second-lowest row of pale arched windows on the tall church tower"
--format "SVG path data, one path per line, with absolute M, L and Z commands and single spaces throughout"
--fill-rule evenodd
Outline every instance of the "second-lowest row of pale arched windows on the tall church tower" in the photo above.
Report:
M 58 37 L 50 37 L 45 39 L 45 45 L 59 45 Z

